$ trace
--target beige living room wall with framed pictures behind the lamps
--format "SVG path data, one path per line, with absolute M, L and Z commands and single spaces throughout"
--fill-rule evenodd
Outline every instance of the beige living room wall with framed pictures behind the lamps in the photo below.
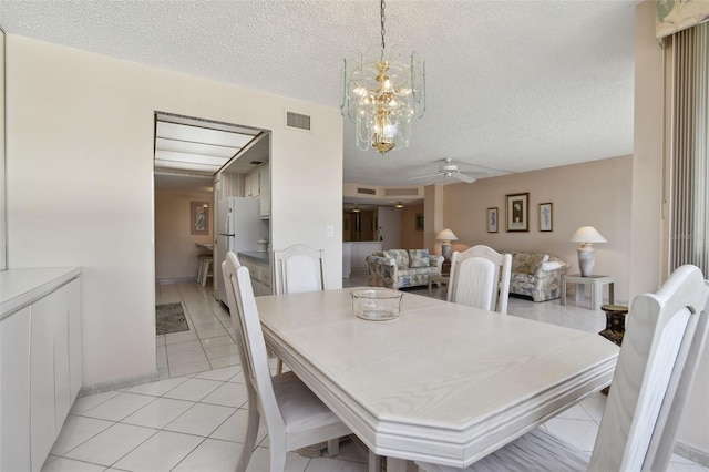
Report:
M 553 254 L 578 274 L 577 243 L 569 238 L 579 226 L 592 225 L 608 240 L 594 245 L 594 274 L 615 278 L 616 301 L 628 301 L 630 193 L 633 158 L 623 156 L 543 171 L 484 178 L 444 188 L 444 227 L 459 240 L 453 250 L 476 244 L 495 249 L 531 249 Z M 530 230 L 505 232 L 505 195 L 530 193 Z M 540 232 L 538 206 L 553 204 L 553 232 Z M 486 211 L 499 208 L 497 233 L 487 233 Z

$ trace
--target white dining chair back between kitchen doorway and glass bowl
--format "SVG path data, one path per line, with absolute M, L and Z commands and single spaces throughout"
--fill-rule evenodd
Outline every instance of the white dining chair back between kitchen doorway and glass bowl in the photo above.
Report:
M 325 253 L 305 244 L 274 250 L 276 294 L 325 290 Z

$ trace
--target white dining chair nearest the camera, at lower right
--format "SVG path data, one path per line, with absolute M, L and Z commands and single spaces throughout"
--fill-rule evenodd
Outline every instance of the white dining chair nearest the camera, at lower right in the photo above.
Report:
M 535 429 L 465 471 L 665 471 L 707 337 L 709 283 L 677 268 L 655 294 L 635 298 L 590 461 Z M 428 472 L 460 469 L 418 463 Z

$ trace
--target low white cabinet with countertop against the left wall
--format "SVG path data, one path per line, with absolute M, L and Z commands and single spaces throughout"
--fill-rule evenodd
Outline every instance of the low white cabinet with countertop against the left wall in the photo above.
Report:
M 0 273 L 0 470 L 41 470 L 81 389 L 80 273 Z

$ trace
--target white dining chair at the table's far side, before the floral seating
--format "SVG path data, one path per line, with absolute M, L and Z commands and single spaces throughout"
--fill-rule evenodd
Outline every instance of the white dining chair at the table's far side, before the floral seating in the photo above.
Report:
M 512 255 L 484 245 L 451 257 L 448 301 L 507 314 Z

